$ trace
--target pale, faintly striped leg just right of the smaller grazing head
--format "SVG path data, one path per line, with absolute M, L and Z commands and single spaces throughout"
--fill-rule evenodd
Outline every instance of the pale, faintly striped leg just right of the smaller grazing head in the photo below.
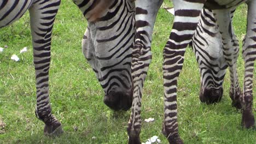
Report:
M 239 55 L 239 43 L 232 27 L 230 9 L 213 10 L 215 14 L 219 31 L 222 35 L 223 54 L 226 62 L 229 65 L 230 71 L 230 98 L 232 99 L 232 106 L 241 109 L 240 95 L 241 90 L 237 77 L 237 58 Z

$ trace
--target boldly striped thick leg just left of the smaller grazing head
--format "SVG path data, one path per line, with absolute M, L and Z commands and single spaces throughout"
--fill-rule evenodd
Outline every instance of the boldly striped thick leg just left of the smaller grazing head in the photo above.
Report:
M 202 0 L 173 0 L 175 17 L 164 48 L 164 124 L 163 134 L 170 143 L 183 143 L 178 134 L 177 79 L 182 70 L 185 48 L 188 46 L 203 7 Z M 191 9 L 190 9 L 191 8 Z

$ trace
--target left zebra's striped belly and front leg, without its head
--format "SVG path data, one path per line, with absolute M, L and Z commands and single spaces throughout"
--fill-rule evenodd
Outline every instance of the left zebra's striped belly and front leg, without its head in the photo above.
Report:
M 60 0 L 53 1 L 2 1 L 0 27 L 18 20 L 30 11 L 34 67 L 36 70 L 36 116 L 45 123 L 45 134 L 62 133 L 61 123 L 51 114 L 49 100 L 49 68 L 51 32 Z

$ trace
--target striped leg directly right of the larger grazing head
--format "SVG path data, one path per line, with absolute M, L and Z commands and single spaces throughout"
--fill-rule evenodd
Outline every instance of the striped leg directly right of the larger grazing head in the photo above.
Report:
M 136 39 L 132 51 L 133 101 L 127 132 L 129 143 L 141 143 L 141 98 L 144 80 L 152 59 L 151 41 L 154 23 L 162 0 L 135 1 Z

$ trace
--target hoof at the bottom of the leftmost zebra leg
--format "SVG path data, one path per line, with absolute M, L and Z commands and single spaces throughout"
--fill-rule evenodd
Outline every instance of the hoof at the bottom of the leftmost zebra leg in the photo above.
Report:
M 44 135 L 46 136 L 60 136 L 63 133 L 61 124 L 59 125 L 44 125 Z

